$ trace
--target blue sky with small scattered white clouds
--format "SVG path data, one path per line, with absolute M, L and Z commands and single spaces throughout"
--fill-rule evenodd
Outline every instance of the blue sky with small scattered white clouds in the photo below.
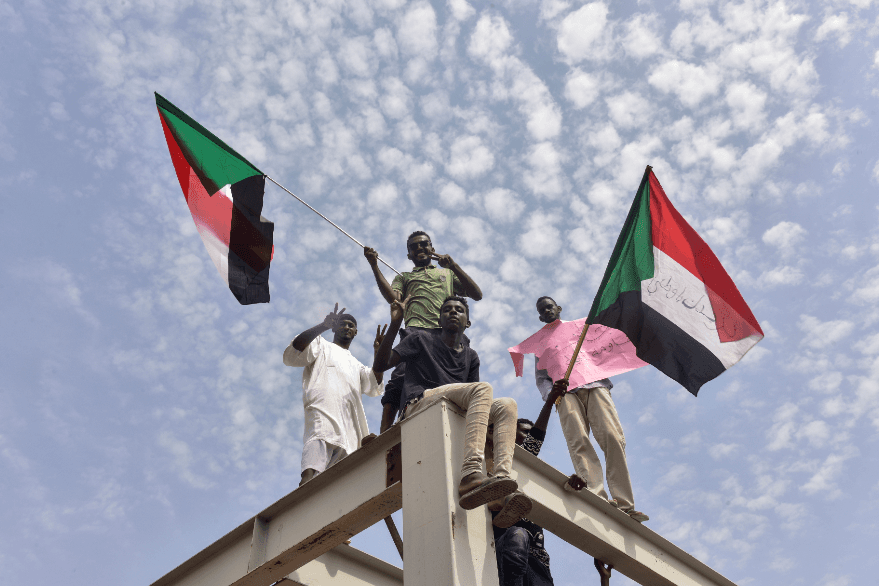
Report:
M 698 397 L 614 379 L 637 508 L 737 584 L 875 581 L 879 2 L 0 0 L 0 31 L 0 583 L 149 584 L 288 494 L 283 349 L 338 301 L 369 363 L 389 321 L 360 248 L 273 185 L 272 301 L 240 306 L 155 91 L 397 270 L 428 231 L 532 418 L 506 349 L 539 296 L 586 315 L 652 165 L 766 337 Z M 572 472 L 555 417 L 541 457 Z M 399 564 L 383 524 L 353 545 Z

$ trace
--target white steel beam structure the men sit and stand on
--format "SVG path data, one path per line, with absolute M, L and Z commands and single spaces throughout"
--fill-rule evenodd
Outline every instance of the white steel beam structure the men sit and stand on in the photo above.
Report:
M 395 425 L 152 586 L 497 586 L 491 517 L 457 504 L 462 415 L 441 401 Z M 513 472 L 531 520 L 639 584 L 735 586 L 521 448 Z M 344 544 L 401 508 L 405 573 Z

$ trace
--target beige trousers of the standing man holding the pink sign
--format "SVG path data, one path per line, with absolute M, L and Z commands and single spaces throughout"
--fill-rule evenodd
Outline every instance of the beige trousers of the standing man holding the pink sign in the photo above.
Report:
M 635 506 L 632 480 L 626 463 L 626 436 L 614 407 L 610 391 L 604 387 L 578 389 L 566 393 L 558 406 L 562 433 L 577 476 L 586 480 L 586 488 L 607 499 L 601 462 L 589 441 L 589 430 L 604 452 L 607 485 L 620 508 Z

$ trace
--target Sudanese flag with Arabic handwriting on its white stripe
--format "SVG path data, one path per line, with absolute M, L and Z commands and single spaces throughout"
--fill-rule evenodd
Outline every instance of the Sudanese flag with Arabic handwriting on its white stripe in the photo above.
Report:
M 735 283 L 650 167 L 587 322 L 625 333 L 638 358 L 694 395 L 763 339 Z

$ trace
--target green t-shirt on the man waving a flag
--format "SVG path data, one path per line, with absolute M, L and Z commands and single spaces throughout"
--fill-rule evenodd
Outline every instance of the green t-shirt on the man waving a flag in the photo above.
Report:
M 406 327 L 438 328 L 439 309 L 450 295 L 462 295 L 461 281 L 452 272 L 434 265 L 415 267 L 397 275 L 391 289 L 409 298 L 403 321 Z

